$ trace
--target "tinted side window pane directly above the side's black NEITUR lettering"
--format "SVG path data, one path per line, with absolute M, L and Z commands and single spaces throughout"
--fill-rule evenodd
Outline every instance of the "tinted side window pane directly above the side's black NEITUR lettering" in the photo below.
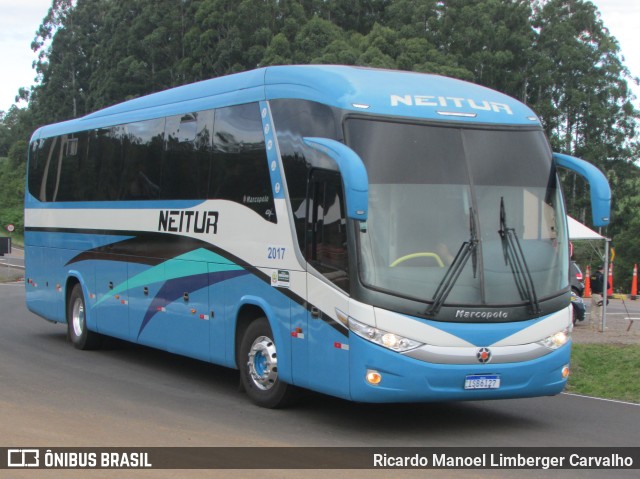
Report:
M 213 110 L 167 118 L 162 166 L 164 199 L 207 197 L 213 157 L 213 118 Z

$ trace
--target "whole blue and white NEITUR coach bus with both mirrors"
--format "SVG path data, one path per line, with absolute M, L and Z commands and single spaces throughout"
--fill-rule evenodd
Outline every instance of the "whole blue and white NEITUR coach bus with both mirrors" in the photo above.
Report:
M 249 398 L 554 395 L 569 374 L 569 242 L 552 153 L 520 102 L 437 75 L 274 66 L 44 126 L 30 142 L 26 303 L 237 368 Z

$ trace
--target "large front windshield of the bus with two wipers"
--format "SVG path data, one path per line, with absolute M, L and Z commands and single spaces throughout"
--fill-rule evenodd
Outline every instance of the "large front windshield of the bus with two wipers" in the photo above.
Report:
M 563 201 L 541 130 L 351 118 L 346 141 L 369 175 L 366 287 L 532 312 L 568 287 Z

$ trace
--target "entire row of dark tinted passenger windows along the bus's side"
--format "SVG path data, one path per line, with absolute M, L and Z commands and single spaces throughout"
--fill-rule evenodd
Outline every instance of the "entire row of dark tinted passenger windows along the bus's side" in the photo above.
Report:
M 29 191 L 40 201 L 226 199 L 276 222 L 257 103 L 39 140 Z

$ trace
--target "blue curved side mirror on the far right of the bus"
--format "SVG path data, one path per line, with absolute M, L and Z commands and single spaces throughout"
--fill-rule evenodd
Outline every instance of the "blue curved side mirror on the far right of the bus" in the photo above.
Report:
M 591 163 L 562 153 L 554 153 L 557 166 L 582 176 L 591 190 L 591 212 L 595 226 L 607 226 L 611 217 L 611 188 L 604 174 Z

